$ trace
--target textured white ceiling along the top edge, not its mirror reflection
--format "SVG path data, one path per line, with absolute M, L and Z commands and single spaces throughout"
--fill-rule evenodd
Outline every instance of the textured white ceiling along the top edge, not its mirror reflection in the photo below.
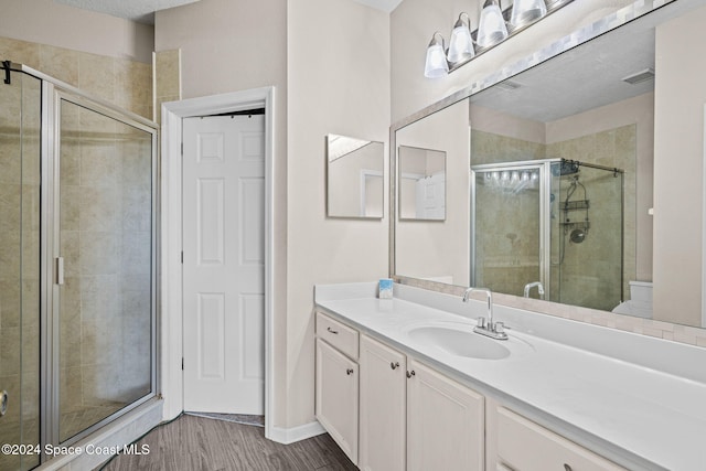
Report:
M 113 17 L 126 18 L 140 23 L 154 23 L 154 12 L 168 8 L 193 3 L 199 0 L 54 0 L 83 10 L 97 11 Z M 354 0 L 389 13 L 402 0 Z

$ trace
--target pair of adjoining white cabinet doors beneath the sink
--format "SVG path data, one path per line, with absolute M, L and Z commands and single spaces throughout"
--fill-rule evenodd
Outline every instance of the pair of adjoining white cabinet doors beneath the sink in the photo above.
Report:
M 360 468 L 480 470 L 483 396 L 361 336 Z

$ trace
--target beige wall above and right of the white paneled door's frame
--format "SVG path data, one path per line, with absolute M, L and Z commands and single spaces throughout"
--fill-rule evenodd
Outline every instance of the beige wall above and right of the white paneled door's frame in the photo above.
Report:
M 182 98 L 275 86 L 272 276 L 278 289 L 274 293 L 272 303 L 272 353 L 277 370 L 275 408 L 285 410 L 288 394 L 287 2 L 201 0 L 159 11 L 154 18 L 154 50 L 158 58 L 165 57 L 170 63 L 181 62 Z M 179 54 L 174 51 L 179 51 Z M 170 76 L 174 75 L 174 71 L 169 69 L 168 73 Z M 158 77 L 158 83 L 160 78 Z M 172 93 L 178 92 L 179 86 L 173 88 Z M 321 140 L 323 141 L 323 137 Z M 282 368 L 279 370 L 279 366 Z M 284 414 L 277 415 L 275 426 L 286 427 L 286 420 Z

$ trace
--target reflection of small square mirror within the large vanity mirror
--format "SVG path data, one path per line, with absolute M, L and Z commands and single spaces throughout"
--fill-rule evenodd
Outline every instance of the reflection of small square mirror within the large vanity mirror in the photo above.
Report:
M 399 218 L 446 220 L 446 152 L 399 146 Z

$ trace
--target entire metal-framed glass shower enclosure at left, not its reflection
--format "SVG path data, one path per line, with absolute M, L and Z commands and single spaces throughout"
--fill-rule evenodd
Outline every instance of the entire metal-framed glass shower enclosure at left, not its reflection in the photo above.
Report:
M 157 129 L 2 65 L 0 442 L 36 448 L 0 469 L 26 470 L 156 395 Z

